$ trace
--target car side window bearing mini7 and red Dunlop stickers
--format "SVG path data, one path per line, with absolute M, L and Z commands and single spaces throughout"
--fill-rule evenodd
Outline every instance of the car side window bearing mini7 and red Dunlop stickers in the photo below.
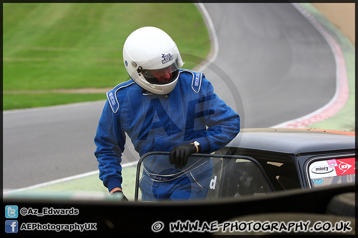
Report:
M 314 159 L 307 167 L 310 187 L 355 182 L 355 158 Z

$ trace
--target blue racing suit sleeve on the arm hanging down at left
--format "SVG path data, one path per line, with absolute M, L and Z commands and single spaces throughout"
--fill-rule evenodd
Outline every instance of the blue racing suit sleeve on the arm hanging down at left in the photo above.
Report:
M 121 156 L 124 151 L 125 132 L 121 128 L 119 112 L 113 113 L 106 101 L 99 119 L 94 143 L 98 161 L 99 179 L 111 191 L 122 184 Z

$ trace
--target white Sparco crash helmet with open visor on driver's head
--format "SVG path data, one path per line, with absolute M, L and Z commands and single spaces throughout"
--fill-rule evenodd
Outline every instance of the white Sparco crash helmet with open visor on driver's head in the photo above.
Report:
M 173 91 L 179 68 L 184 64 L 172 38 L 163 30 L 151 26 L 139 28 L 127 37 L 123 46 L 123 61 L 134 82 L 155 94 Z M 171 80 L 158 82 L 157 77 L 167 73 L 172 73 Z

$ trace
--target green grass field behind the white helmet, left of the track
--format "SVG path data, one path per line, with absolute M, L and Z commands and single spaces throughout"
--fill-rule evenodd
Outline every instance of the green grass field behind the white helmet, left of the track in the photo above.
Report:
M 209 52 L 207 29 L 192 3 L 3 3 L 3 110 L 101 98 L 31 91 L 111 88 L 128 80 L 122 47 L 143 26 L 171 35 L 185 68 Z M 10 95 L 16 91 L 29 94 Z

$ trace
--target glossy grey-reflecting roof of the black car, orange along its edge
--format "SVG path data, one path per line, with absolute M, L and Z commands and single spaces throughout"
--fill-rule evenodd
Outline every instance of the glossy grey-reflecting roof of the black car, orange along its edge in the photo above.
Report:
M 245 128 L 227 146 L 289 154 L 354 150 L 355 135 L 354 131 L 307 128 Z

